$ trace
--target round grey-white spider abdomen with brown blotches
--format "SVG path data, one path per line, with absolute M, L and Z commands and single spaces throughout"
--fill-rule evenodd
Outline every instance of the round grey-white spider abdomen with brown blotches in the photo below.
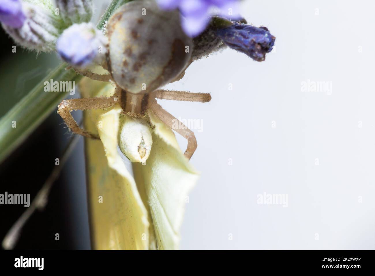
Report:
M 169 83 L 191 60 L 192 39 L 178 11 L 161 11 L 154 1 L 126 3 L 107 26 L 107 62 L 114 81 L 130 93 L 148 93 Z

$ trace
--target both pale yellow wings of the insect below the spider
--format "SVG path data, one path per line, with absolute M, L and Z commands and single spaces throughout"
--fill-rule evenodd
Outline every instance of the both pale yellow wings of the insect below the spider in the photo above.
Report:
M 82 84 L 81 89 L 88 90 L 103 85 L 92 80 Z M 113 87 L 107 85 L 99 95 L 112 93 Z M 153 144 L 146 164 L 133 163 L 134 181 L 117 147 L 119 113 L 115 106 L 84 116 L 85 127 L 101 137 L 101 141 L 86 141 L 93 247 L 178 249 L 184 208 L 198 173 L 181 152 L 173 131 L 149 111 Z M 103 203 L 98 203 L 99 195 Z

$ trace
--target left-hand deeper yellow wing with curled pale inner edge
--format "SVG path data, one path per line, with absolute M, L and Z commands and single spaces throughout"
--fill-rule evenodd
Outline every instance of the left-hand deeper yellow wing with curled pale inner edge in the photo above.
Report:
M 95 83 L 101 85 L 83 81 L 81 91 L 95 89 Z M 111 93 L 113 87 L 107 85 L 98 95 Z M 147 211 L 132 175 L 117 154 L 119 112 L 119 107 L 84 112 L 85 128 L 101 137 L 85 141 L 92 245 L 99 250 L 148 249 Z

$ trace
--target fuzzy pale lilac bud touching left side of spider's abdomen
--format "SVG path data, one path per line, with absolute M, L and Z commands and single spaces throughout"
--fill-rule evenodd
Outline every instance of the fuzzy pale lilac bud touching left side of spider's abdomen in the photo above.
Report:
M 86 67 L 104 59 L 106 38 L 92 23 L 74 24 L 57 39 L 56 50 L 71 65 Z

